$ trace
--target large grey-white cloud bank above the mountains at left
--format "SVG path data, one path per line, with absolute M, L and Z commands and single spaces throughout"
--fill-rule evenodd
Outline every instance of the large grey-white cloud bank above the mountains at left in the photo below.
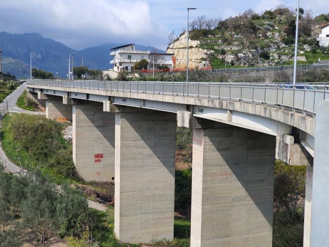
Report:
M 165 30 L 152 20 L 145 1 L 5 0 L 0 12 L 5 13 L 0 16 L 3 31 L 40 32 L 78 48 L 97 39 L 99 44 L 142 42 L 150 36 L 157 41 Z

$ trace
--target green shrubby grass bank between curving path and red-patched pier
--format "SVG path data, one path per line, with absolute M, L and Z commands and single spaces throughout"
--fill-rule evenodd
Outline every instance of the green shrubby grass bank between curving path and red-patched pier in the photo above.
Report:
M 56 184 L 79 182 L 72 146 L 62 136 L 65 125 L 41 115 L 7 114 L 2 119 L 2 148 L 15 164 L 40 170 Z

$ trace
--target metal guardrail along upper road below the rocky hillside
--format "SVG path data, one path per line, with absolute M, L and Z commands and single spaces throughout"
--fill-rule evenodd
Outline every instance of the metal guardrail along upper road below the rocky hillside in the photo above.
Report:
M 297 69 L 314 69 L 314 68 L 328 68 L 329 64 L 302 64 L 297 65 Z M 213 69 L 209 70 L 209 73 L 223 74 L 223 73 L 244 73 L 244 72 L 258 72 L 258 71 L 277 71 L 277 70 L 292 70 L 293 65 L 282 66 L 267 66 L 267 67 L 246 67 L 236 69 Z

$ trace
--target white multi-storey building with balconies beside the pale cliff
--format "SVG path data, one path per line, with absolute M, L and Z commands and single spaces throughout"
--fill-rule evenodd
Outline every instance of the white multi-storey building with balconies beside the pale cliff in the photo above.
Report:
M 150 51 L 140 51 L 135 49 L 134 44 L 121 45 L 114 47 L 110 50 L 110 56 L 114 58 L 110 61 L 113 64 L 113 70 L 116 72 L 122 70 L 130 71 L 134 64 L 141 59 L 146 59 L 148 67 L 144 69 L 153 68 L 153 59 L 155 67 L 162 66 L 163 68 L 173 68 L 173 57 L 174 54 L 169 53 L 156 53 Z

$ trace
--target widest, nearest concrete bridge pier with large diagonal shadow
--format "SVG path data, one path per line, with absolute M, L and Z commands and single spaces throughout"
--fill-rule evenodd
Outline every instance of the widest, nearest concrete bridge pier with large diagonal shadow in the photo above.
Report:
M 193 129 L 191 247 L 272 246 L 275 136 Z

